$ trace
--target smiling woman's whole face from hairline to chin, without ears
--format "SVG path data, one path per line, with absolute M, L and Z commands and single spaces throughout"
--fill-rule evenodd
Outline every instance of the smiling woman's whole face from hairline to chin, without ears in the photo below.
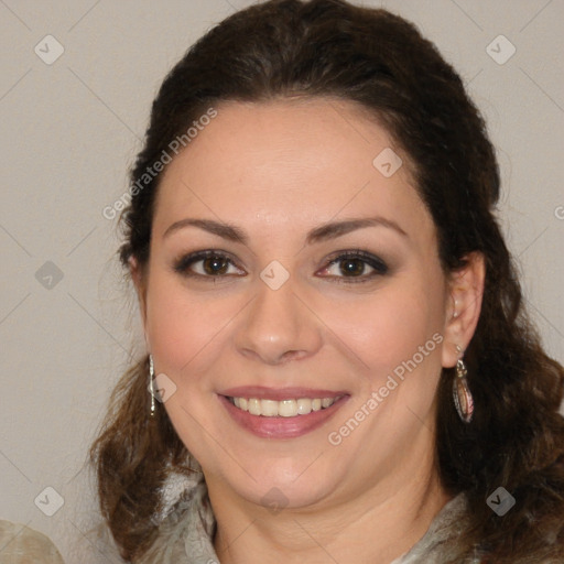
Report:
M 405 155 L 394 171 L 351 102 L 217 111 L 162 178 L 140 286 L 171 421 L 209 487 L 251 502 L 399 489 L 432 465 L 453 348 Z

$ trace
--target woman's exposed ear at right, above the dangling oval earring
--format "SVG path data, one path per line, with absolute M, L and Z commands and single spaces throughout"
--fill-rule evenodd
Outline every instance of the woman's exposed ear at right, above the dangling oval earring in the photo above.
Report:
M 451 273 L 445 319 L 443 367 L 451 368 L 462 358 L 470 343 L 481 311 L 486 280 L 484 254 L 475 251 L 465 257 L 465 265 Z

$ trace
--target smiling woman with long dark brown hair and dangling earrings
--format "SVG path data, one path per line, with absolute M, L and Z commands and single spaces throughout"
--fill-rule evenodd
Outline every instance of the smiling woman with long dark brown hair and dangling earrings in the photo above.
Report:
M 413 25 L 236 13 L 164 80 L 131 178 L 148 355 L 93 447 L 126 561 L 564 562 L 564 371 L 484 122 Z

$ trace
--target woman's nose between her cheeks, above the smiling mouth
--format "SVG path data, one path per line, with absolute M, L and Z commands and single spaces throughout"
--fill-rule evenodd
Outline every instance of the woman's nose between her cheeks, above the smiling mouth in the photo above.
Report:
M 321 327 L 292 276 L 278 290 L 257 281 L 235 338 L 240 354 L 267 365 L 304 359 L 322 347 Z

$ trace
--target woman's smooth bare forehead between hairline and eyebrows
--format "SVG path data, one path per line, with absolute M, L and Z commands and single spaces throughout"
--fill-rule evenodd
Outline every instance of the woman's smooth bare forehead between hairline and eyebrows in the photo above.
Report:
M 187 214 L 272 229 L 388 215 L 433 230 L 406 155 L 356 104 L 308 98 L 216 109 L 164 173 L 156 230 Z

